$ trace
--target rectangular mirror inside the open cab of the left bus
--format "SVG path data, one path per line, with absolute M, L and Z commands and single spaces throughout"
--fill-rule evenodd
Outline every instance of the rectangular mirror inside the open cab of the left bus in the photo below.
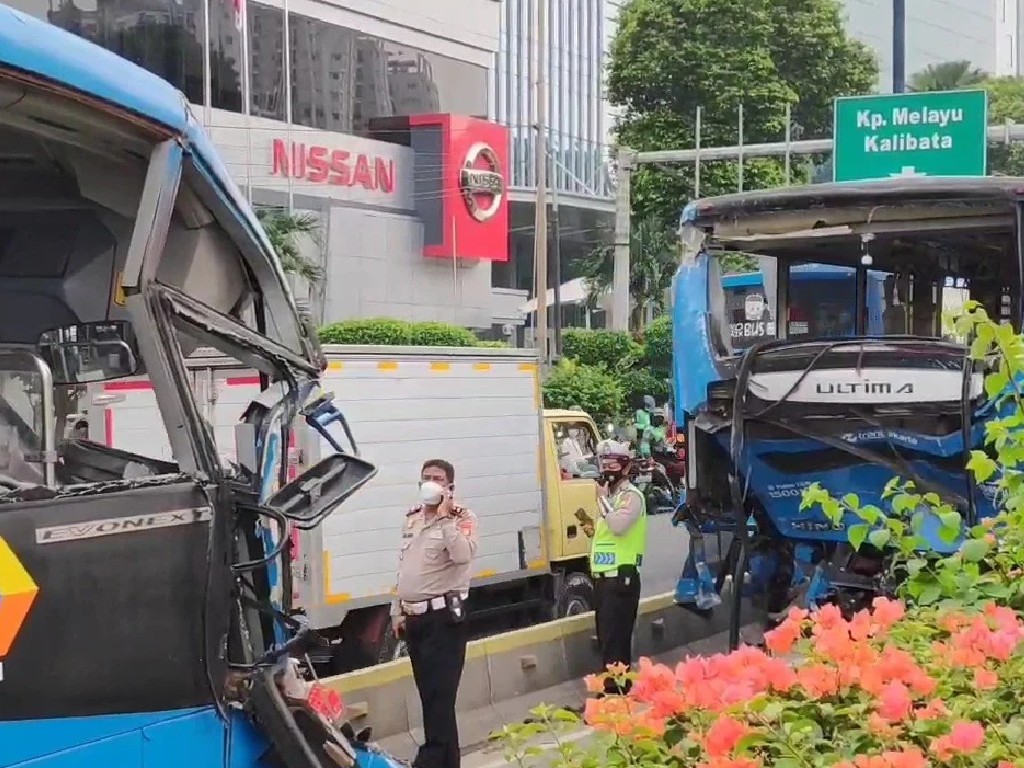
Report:
M 54 328 L 40 335 L 37 346 L 54 384 L 90 384 L 138 371 L 138 344 L 124 321 Z

